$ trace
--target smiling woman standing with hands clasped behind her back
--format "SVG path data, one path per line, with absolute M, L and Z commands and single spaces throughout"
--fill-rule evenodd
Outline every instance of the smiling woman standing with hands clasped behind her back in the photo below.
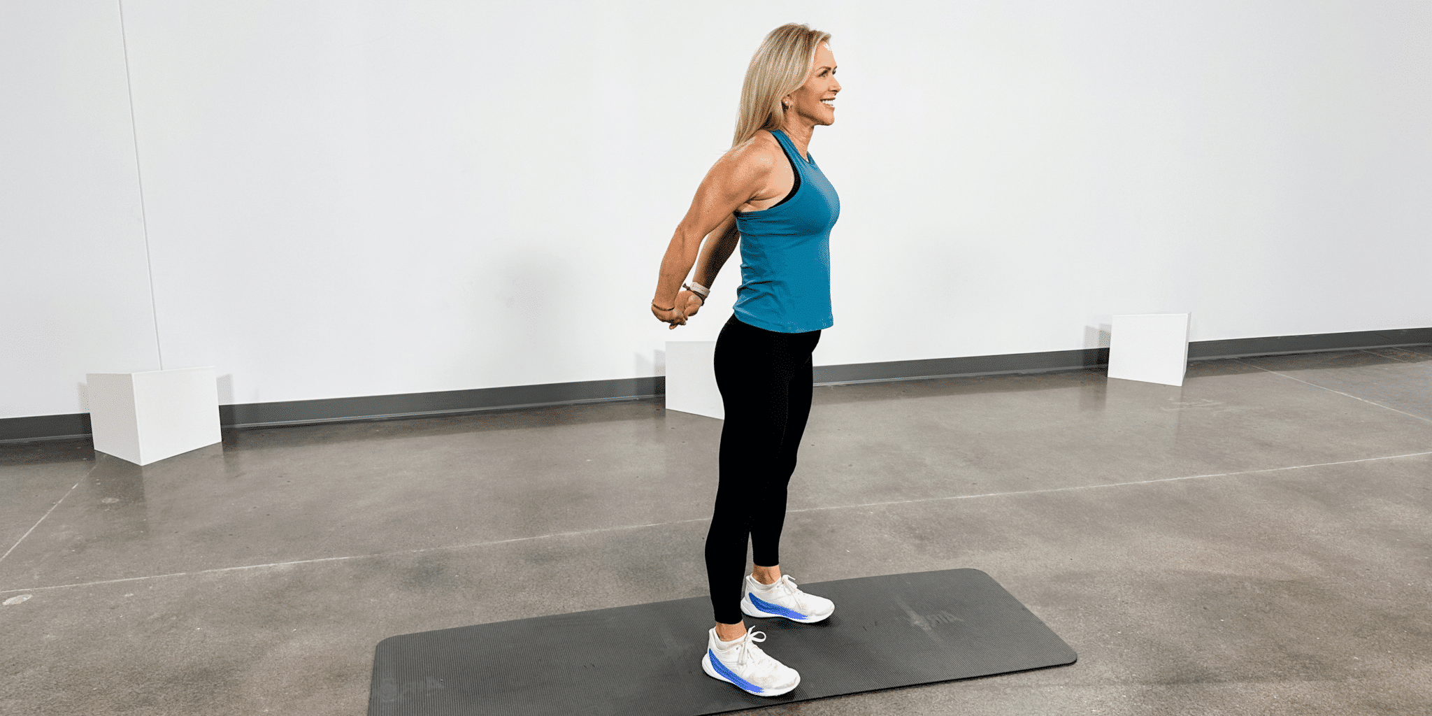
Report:
M 831 33 L 786 24 L 766 36 L 746 69 L 732 147 L 696 189 L 662 258 L 652 302 L 657 319 L 684 325 L 740 243 L 736 309 L 716 341 L 716 385 L 726 407 L 720 484 L 706 534 L 706 576 L 716 626 L 702 669 L 759 696 L 779 696 L 800 674 L 756 646 L 742 614 L 812 623 L 835 604 L 780 574 L 778 547 L 786 484 L 811 414 L 811 352 L 831 314 L 831 228 L 835 188 L 809 155 L 816 125 L 833 125 Z M 705 241 L 705 248 L 702 241 Z M 697 259 L 692 286 L 682 284 Z M 690 291 L 677 292 L 677 286 Z M 750 576 L 746 538 L 750 537 Z M 737 586 L 737 581 L 740 583 Z M 753 630 L 755 627 L 752 627 Z

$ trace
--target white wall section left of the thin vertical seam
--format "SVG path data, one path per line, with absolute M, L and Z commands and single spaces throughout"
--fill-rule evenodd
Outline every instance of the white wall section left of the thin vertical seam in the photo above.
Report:
M 155 367 L 119 9 L 0 3 L 0 418 Z

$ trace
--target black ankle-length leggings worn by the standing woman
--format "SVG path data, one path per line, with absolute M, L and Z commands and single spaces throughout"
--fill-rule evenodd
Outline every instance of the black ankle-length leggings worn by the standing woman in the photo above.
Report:
M 821 331 L 780 334 L 732 314 L 716 338 L 716 387 L 726 408 L 720 483 L 706 533 L 706 580 L 716 621 L 740 621 L 746 538 L 752 561 L 780 564 L 786 484 L 811 417 L 811 352 Z

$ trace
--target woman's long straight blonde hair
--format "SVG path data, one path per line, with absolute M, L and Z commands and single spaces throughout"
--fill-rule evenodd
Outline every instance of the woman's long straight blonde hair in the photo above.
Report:
M 812 30 L 805 24 L 782 24 L 750 56 L 746 82 L 740 86 L 740 110 L 736 115 L 736 146 L 762 129 L 780 129 L 786 113 L 780 97 L 805 84 L 815 66 L 815 50 L 831 39 L 831 33 Z

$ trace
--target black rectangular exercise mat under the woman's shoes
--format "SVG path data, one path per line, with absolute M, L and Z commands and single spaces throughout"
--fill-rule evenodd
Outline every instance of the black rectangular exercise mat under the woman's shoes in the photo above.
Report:
M 384 639 L 368 716 L 697 716 L 1077 659 L 979 570 L 800 584 L 835 601 L 818 624 L 746 617 L 760 647 L 800 672 L 790 693 L 752 696 L 706 676 L 709 597 L 497 621 Z

